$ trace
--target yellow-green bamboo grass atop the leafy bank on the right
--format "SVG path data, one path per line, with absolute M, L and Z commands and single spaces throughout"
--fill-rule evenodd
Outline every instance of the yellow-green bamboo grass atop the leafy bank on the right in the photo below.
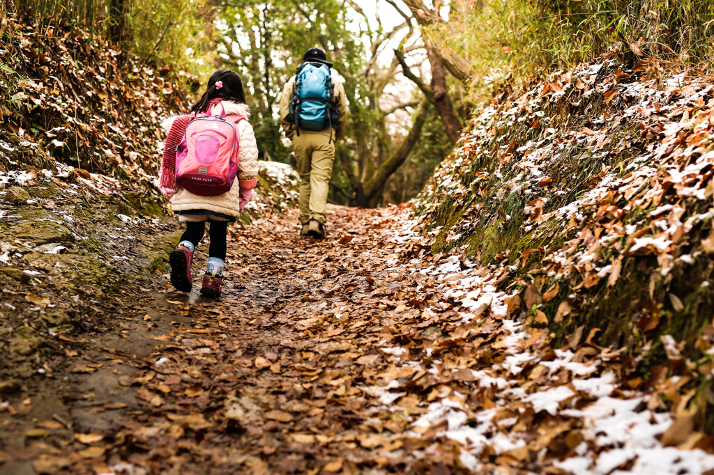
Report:
M 456 1 L 430 34 L 469 59 L 483 93 L 514 75 L 589 61 L 615 41 L 633 59 L 709 65 L 713 28 L 709 0 L 481 0 Z

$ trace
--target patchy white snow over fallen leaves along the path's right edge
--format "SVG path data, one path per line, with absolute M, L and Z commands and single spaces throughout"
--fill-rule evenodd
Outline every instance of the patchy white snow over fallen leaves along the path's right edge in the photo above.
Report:
M 392 242 L 403 246 L 421 241 L 418 231 L 413 230 L 418 223 L 410 219 L 407 212 L 399 216 L 398 221 L 402 223 L 401 229 L 392 233 Z M 551 462 L 558 469 L 573 474 L 701 474 L 714 469 L 714 456 L 703 450 L 660 444 L 659 439 L 671 426 L 672 417 L 666 412 L 648 409 L 649 394 L 615 391 L 620 384 L 615 373 L 608 369 L 605 361 L 608 358 L 595 356 L 586 362 L 574 361 L 579 358 L 571 349 L 555 349 L 552 358 L 544 360 L 540 354 L 529 351 L 525 342 L 538 337 L 538 330 L 505 320 L 509 296 L 497 291 L 492 283 L 494 275 L 502 269 L 469 267 L 463 265 L 458 255 L 424 268 L 418 266 L 421 262 L 420 259 L 401 265 L 394 262 L 392 269 L 411 275 L 421 273 L 440 282 L 431 291 L 443 292 L 461 302 L 459 314 L 463 316 L 464 325 L 488 317 L 489 322 L 500 327 L 498 331 L 502 334 L 494 346 L 504 349 L 505 357 L 491 367 L 472 370 L 480 387 L 495 389 L 492 407 L 473 410 L 466 395 L 447 390 L 428 404 L 424 414 L 411 417 L 413 436 L 421 436 L 430 427 L 446 422 L 436 436 L 443 435 L 461 443 L 462 464 L 477 472 L 486 469 L 480 458 L 486 452 L 518 461 L 528 457 L 543 461 L 548 442 L 554 440 L 548 431 L 553 431 L 551 436 L 557 436 L 562 427 L 580 427 L 577 433 L 582 441 L 571 451 L 572 456 Z M 603 353 L 608 350 L 603 349 Z M 385 346 L 381 351 L 398 357 L 404 366 L 423 367 L 433 374 L 442 368 L 438 360 L 411 359 L 409 352 L 401 347 Z M 430 355 L 431 351 L 424 352 L 424 356 Z M 530 377 L 524 380 L 521 372 L 533 366 L 543 368 L 539 372 L 542 377 L 532 379 L 535 369 L 531 369 Z M 381 404 L 389 405 L 406 394 L 400 388 L 401 384 L 393 380 L 386 387 L 364 389 L 380 397 Z M 531 409 L 535 414 L 545 412 L 560 421 L 556 429 L 539 429 L 541 434 L 535 443 L 532 434 L 523 430 L 524 427 L 517 427 Z M 513 415 L 503 418 L 503 414 Z

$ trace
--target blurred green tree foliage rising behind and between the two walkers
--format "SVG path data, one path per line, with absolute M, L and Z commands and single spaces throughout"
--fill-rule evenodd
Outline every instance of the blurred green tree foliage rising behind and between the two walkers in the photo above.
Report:
M 258 149 L 273 160 L 286 162 L 290 153 L 283 139 L 278 108 L 283 86 L 314 46 L 327 51 L 334 71 L 351 77 L 363 61 L 363 47 L 346 29 L 346 6 L 335 0 L 264 3 L 224 1 L 216 22 L 219 61 L 243 76 Z M 353 103 L 360 84 L 348 81 L 351 121 L 360 117 Z

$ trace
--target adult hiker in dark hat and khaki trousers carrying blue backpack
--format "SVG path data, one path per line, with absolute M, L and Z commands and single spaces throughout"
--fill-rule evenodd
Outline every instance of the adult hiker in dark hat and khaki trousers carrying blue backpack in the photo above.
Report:
M 301 181 L 300 234 L 316 239 L 325 237 L 335 143 L 342 138 L 347 120 L 345 90 L 331 68 L 325 51 L 308 49 L 280 101 L 283 130 L 293 142 Z

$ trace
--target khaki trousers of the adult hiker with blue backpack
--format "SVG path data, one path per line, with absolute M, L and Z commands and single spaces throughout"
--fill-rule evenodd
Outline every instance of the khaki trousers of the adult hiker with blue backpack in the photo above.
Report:
M 293 136 L 293 152 L 300 175 L 300 223 L 314 219 L 325 223 L 327 195 L 330 190 L 332 163 L 335 160 L 335 137 L 323 133 Z

